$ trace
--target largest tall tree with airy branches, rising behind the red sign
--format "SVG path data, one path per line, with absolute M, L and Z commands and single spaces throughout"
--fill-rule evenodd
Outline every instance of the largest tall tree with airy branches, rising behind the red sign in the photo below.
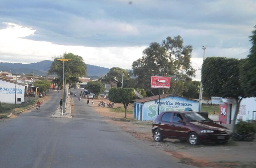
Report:
M 183 46 L 183 39 L 180 36 L 173 39 L 167 37 L 162 44 L 151 43 L 143 51 L 142 58 L 132 64 L 133 73 L 138 76 L 140 87 L 145 88 L 146 91 L 152 91 L 151 76 L 170 76 L 172 78 L 170 94 L 178 93 L 183 89 L 180 87 L 181 81 L 195 74 L 195 70 L 190 65 L 191 53 L 192 46 Z

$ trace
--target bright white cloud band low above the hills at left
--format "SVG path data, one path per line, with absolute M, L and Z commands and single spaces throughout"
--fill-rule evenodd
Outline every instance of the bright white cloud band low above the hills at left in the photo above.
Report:
M 64 52 L 83 57 L 86 64 L 102 67 L 121 67 L 131 69 L 132 62 L 142 56 L 146 46 L 139 47 L 86 47 L 86 46 L 65 46 L 52 44 L 47 41 L 32 41 L 20 37 L 32 35 L 35 30 L 26 27 L 7 24 L 6 29 L 0 30 L 0 61 L 32 63 L 42 60 L 52 60 L 52 57 L 61 55 Z M 10 26 L 9 26 L 10 25 Z M 11 30 L 10 30 L 11 29 Z M 13 36 L 12 36 L 13 35 Z M 10 39 L 10 36 L 12 38 Z M 20 61 L 18 61 L 20 60 Z

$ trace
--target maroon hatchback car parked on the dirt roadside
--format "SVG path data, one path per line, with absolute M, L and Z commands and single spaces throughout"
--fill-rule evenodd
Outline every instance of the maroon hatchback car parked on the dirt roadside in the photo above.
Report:
M 231 131 L 197 112 L 166 111 L 154 120 L 152 133 L 156 142 L 172 138 L 197 145 L 200 142 L 226 143 Z

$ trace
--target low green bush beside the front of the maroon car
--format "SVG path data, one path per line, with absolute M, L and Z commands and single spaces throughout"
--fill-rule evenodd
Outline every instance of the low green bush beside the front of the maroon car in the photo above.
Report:
M 255 139 L 256 127 L 251 122 L 238 120 L 235 127 L 235 132 L 232 136 L 235 141 L 253 141 Z

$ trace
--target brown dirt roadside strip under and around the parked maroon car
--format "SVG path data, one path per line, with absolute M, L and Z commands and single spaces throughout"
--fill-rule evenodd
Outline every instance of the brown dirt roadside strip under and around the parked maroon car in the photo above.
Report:
M 97 101 L 91 105 L 102 116 L 111 118 L 109 121 L 130 133 L 149 146 L 168 152 L 178 158 L 180 162 L 198 167 L 256 167 L 256 142 L 229 141 L 225 145 L 203 144 L 190 146 L 187 142 L 165 139 L 163 143 L 156 143 L 152 138 L 151 122 L 133 120 L 133 114 L 111 112 L 109 108 L 98 107 Z M 116 104 L 122 108 L 121 104 Z

